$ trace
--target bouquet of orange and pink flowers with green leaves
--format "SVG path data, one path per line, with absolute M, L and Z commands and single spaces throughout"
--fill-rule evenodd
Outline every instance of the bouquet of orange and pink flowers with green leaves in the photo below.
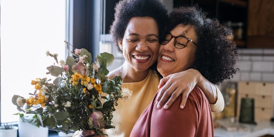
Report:
M 69 50 L 71 45 L 65 43 Z M 18 113 L 23 121 L 33 125 L 65 133 L 93 130 L 96 135 L 104 135 L 103 128 L 114 128 L 112 118 L 117 100 L 129 98 L 132 92 L 122 92 L 120 76 L 107 77 L 107 66 L 114 60 L 112 54 L 100 53 L 95 63 L 91 63 L 88 50 L 82 48 L 70 52 L 75 58 L 68 56 L 66 61 L 58 61 L 58 54 L 47 51 L 46 55 L 56 62 L 47 67 L 47 74 L 56 78 L 53 81 L 47 78 L 32 80 L 34 93 L 29 93 L 28 98 L 14 95 L 12 102 L 23 112 Z M 24 119 L 24 114 L 32 114 L 32 118 Z

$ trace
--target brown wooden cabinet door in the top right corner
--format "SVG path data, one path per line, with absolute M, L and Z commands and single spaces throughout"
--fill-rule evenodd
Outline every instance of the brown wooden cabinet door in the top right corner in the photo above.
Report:
M 247 46 L 274 48 L 274 0 L 249 0 Z

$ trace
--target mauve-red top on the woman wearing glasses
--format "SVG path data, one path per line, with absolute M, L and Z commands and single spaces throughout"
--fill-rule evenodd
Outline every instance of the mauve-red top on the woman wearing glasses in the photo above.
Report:
M 130 137 L 214 137 L 209 103 L 200 88 L 188 95 L 180 109 L 182 94 L 164 110 L 155 105 L 157 94 L 135 123 Z

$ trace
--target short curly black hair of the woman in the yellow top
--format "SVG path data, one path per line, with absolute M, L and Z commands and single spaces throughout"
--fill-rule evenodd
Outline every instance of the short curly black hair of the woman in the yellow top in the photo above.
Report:
M 115 5 L 114 22 L 110 29 L 111 40 L 120 53 L 122 50 L 118 41 L 123 39 L 126 27 L 133 17 L 152 17 L 158 24 L 160 39 L 164 37 L 162 28 L 168 14 L 162 0 L 121 0 Z

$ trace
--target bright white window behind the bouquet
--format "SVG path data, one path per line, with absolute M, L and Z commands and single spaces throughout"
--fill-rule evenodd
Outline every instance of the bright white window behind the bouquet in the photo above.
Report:
M 28 97 L 35 78 L 48 77 L 54 63 L 46 51 L 65 59 L 66 0 L 1 0 L 1 122 L 18 121 L 14 94 Z

